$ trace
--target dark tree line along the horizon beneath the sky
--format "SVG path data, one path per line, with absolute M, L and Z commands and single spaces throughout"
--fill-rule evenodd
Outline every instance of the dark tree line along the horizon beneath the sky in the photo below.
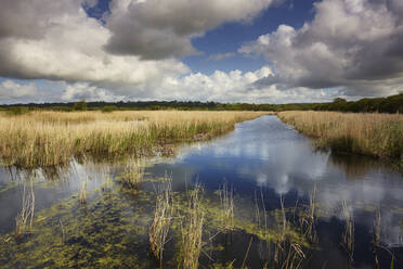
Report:
M 295 103 L 295 104 L 249 104 L 219 103 L 198 101 L 128 101 L 128 102 L 70 102 L 70 103 L 29 103 L 0 105 L 1 110 L 12 114 L 22 114 L 35 110 L 51 111 L 95 111 L 103 112 L 125 110 L 183 110 L 183 111 L 339 111 L 339 112 L 379 112 L 402 113 L 403 93 L 387 98 L 365 98 L 359 101 L 347 101 L 336 98 L 327 103 Z

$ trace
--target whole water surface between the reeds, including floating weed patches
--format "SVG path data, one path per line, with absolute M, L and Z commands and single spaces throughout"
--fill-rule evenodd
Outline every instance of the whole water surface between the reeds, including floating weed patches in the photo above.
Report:
M 155 190 L 169 178 L 178 212 L 187 190 L 195 183 L 204 188 L 200 268 L 403 268 L 402 174 L 376 159 L 315 151 L 312 140 L 275 116 L 183 145 L 176 157 L 147 161 L 144 182 L 135 190 L 118 181 L 125 165 L 88 161 L 36 171 L 1 169 L 0 267 L 158 267 L 147 232 Z M 84 205 L 78 197 L 83 182 Z M 224 183 L 234 192 L 235 225 L 227 233 L 218 228 L 217 191 Z M 16 238 L 15 217 L 30 188 L 35 225 Z M 309 222 L 302 216 L 312 205 Z M 284 223 L 288 243 L 280 240 Z M 165 268 L 176 268 L 179 238 L 172 221 Z

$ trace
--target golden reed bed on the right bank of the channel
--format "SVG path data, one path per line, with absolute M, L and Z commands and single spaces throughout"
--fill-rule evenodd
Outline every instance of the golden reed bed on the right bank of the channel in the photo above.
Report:
M 403 115 L 282 112 L 278 117 L 334 151 L 403 162 Z

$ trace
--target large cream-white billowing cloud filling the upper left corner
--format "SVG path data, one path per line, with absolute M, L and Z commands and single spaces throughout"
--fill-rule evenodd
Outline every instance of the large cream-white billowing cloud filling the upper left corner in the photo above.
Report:
M 141 61 L 139 56 L 105 52 L 103 46 L 112 34 L 99 21 L 88 17 L 81 3 L 2 2 L 0 76 L 87 81 L 96 86 L 132 85 L 133 90 L 150 80 L 188 72 L 186 65 L 174 59 Z

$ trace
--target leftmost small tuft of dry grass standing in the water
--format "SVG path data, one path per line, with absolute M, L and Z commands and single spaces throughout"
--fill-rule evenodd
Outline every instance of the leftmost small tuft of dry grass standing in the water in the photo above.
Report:
M 15 235 L 21 236 L 34 229 L 35 193 L 32 182 L 29 190 L 24 184 L 22 208 L 15 218 Z

